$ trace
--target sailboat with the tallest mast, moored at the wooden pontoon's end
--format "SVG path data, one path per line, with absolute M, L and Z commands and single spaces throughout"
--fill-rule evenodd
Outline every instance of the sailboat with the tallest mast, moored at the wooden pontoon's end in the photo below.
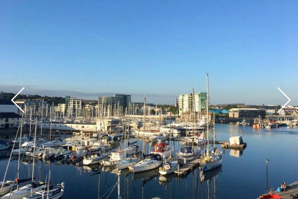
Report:
M 209 112 L 209 91 L 208 91 L 208 74 L 207 74 L 207 114 Z M 215 137 L 215 118 L 213 119 L 213 138 Z M 200 160 L 201 168 L 204 171 L 214 169 L 222 164 L 221 152 L 218 149 L 215 150 L 215 142 L 213 147 L 209 151 L 209 116 L 207 115 L 207 152 Z

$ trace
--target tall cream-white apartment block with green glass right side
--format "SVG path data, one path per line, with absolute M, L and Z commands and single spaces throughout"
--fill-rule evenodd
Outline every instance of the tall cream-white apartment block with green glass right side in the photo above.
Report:
M 205 111 L 207 92 L 179 95 L 179 115 L 186 111 Z

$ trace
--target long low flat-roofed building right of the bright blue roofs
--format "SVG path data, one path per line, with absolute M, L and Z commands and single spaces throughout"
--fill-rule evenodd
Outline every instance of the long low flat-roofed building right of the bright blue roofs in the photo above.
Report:
M 265 109 L 256 108 L 232 108 L 229 109 L 229 118 L 236 118 L 239 120 L 253 120 L 254 118 L 264 118 L 266 116 Z

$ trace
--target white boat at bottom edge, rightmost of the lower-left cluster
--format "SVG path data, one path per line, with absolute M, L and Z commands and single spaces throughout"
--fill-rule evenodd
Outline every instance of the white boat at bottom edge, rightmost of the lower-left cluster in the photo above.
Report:
M 64 182 L 61 184 L 57 184 L 55 186 L 49 187 L 49 191 L 41 190 L 41 191 L 35 192 L 33 195 L 26 196 L 23 199 L 41 199 L 41 198 L 58 199 L 62 197 L 63 193 L 64 193 Z

